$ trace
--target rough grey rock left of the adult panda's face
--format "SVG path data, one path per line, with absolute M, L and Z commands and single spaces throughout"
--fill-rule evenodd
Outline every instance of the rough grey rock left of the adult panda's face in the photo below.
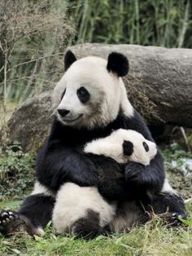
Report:
M 24 152 L 37 151 L 50 132 L 51 91 L 28 99 L 8 121 L 11 141 L 21 143 Z

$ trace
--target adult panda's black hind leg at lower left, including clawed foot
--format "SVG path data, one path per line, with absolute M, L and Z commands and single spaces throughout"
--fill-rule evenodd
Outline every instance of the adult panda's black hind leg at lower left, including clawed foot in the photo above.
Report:
M 0 212 L 0 232 L 3 235 L 15 232 L 28 232 L 41 236 L 43 228 L 50 221 L 55 199 L 52 196 L 37 194 L 28 196 L 18 212 L 2 210 Z

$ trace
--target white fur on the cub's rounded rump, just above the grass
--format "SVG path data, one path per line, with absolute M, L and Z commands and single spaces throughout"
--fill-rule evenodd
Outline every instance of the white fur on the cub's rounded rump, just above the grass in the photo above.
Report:
M 64 234 L 72 230 L 72 225 L 84 218 L 87 210 L 99 213 L 100 226 L 110 223 L 116 214 L 116 205 L 108 204 L 98 192 L 98 188 L 80 187 L 75 183 L 66 183 L 56 196 L 52 222 L 56 232 Z

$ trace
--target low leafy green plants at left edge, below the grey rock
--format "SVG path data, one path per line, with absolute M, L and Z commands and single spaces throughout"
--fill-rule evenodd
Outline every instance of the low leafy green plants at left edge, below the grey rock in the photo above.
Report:
M 34 183 L 34 155 L 13 143 L 0 153 L 0 201 L 24 197 Z

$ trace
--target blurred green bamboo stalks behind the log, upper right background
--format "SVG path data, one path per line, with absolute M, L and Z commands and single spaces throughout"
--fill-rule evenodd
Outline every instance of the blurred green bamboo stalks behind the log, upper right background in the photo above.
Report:
M 78 42 L 191 47 L 190 1 L 72 1 Z M 71 3 L 72 4 L 72 3 Z

